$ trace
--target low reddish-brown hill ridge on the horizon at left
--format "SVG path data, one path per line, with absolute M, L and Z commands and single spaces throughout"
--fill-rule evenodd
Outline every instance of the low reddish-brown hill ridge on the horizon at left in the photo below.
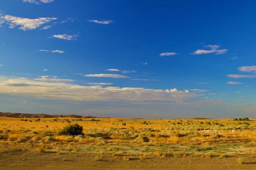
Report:
M 49 115 L 49 114 L 29 114 L 29 113 L 3 113 L 0 116 L 6 117 L 32 117 L 32 118 L 54 118 L 54 117 L 71 117 L 71 118 L 96 118 L 93 116 L 78 116 L 78 115 Z

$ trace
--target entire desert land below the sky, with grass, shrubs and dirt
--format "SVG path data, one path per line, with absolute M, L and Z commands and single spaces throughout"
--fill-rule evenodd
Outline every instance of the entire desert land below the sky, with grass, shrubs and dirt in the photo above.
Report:
M 256 165 L 256 119 L 1 114 L 0 169 L 250 170 Z

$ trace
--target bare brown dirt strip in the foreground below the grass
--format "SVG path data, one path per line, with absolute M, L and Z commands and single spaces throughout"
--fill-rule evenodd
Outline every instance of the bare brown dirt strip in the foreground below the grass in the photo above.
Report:
M 134 157 L 128 161 L 90 153 L 35 153 L 11 151 L 0 153 L 0 170 L 256 170 L 256 156 L 243 156 L 244 164 L 238 157 L 218 158 L 157 158 L 139 161 Z

